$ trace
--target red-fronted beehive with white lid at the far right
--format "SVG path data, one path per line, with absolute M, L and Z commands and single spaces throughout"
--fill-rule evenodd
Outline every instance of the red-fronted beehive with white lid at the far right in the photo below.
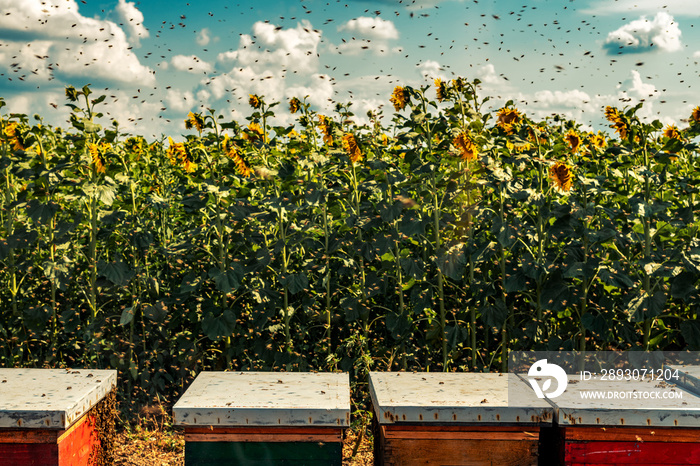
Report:
M 700 398 L 663 380 L 597 377 L 584 384 L 570 375 L 566 391 L 550 400 L 559 426 L 561 464 L 700 464 Z M 606 393 L 606 398 L 582 396 L 591 391 Z M 625 395 L 610 398 L 611 393 Z

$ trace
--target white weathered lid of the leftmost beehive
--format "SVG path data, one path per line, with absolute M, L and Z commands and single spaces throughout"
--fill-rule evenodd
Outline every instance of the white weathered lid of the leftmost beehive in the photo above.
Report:
M 0 368 L 0 428 L 67 429 L 116 385 L 115 370 Z

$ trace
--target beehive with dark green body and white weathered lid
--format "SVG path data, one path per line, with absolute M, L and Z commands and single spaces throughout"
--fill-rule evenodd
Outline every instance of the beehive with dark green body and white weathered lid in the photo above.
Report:
M 173 407 L 186 465 L 340 465 L 348 374 L 202 372 Z

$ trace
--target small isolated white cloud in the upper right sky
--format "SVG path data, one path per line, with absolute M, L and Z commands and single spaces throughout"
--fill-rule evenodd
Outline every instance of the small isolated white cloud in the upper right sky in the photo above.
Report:
M 643 16 L 609 33 L 604 47 L 611 54 L 675 52 L 681 49 L 681 30 L 673 17 L 662 11 L 651 20 Z

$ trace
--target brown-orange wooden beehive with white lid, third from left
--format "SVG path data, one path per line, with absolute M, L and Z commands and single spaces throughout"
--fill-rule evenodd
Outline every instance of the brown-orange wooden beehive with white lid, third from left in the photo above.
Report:
M 537 465 L 552 422 L 515 374 L 372 372 L 370 395 L 379 465 Z

